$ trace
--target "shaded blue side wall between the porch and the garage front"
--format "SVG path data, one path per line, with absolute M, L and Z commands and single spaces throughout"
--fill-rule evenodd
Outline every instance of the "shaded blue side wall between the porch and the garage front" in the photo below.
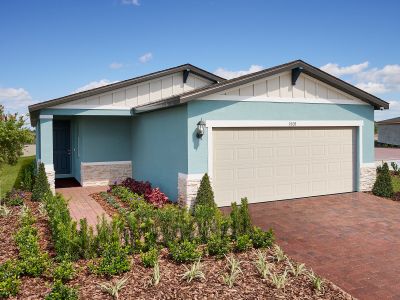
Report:
M 178 173 L 187 173 L 187 109 L 139 114 L 132 120 L 133 177 L 177 199 Z

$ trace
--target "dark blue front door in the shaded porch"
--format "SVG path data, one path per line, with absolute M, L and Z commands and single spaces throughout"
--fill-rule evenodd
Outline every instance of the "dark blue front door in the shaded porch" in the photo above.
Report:
M 71 173 L 71 122 L 53 122 L 53 158 L 56 174 Z

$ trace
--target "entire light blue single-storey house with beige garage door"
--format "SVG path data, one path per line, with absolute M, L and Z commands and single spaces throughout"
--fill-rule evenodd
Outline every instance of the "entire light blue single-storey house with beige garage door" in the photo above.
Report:
M 186 64 L 29 111 L 52 186 L 133 176 L 190 204 L 208 172 L 225 206 L 371 189 L 374 110 L 387 108 L 297 60 L 231 80 Z

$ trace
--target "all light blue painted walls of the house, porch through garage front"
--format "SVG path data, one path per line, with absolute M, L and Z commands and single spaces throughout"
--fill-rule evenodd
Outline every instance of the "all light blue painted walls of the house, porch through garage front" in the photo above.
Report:
M 71 120 L 72 175 L 80 180 L 81 162 L 132 161 L 133 177 L 160 187 L 177 199 L 178 173 L 208 172 L 207 130 L 203 120 L 362 120 L 363 163 L 374 162 L 374 110 L 370 105 L 238 101 L 191 101 L 186 105 L 131 116 L 127 111 L 100 116 L 81 110 L 44 110 Z M 115 115 L 117 114 L 117 115 Z M 62 117 L 64 116 L 64 117 Z M 39 119 L 38 158 L 53 162 L 52 120 Z

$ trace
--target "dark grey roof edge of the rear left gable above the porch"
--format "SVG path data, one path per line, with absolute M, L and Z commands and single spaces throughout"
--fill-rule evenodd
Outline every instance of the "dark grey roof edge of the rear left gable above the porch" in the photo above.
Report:
M 71 94 L 71 95 L 68 95 L 68 96 L 64 96 L 64 97 L 60 97 L 60 98 L 56 98 L 56 99 L 47 100 L 47 101 L 44 101 L 44 102 L 32 104 L 32 105 L 29 106 L 29 112 L 32 113 L 32 112 L 35 112 L 37 110 L 48 108 L 48 107 L 51 107 L 51 106 L 54 106 L 54 105 L 63 104 L 63 103 L 67 103 L 67 102 L 74 101 L 74 100 L 79 100 L 79 99 L 82 99 L 82 98 L 98 95 L 98 94 L 101 94 L 101 93 L 105 93 L 105 92 L 109 92 L 109 91 L 112 91 L 112 90 L 120 89 L 120 88 L 129 86 L 129 85 L 145 82 L 145 81 L 148 81 L 148 80 L 160 78 L 160 77 L 167 76 L 167 75 L 170 75 L 170 74 L 173 74 L 173 73 L 183 72 L 183 71 L 187 71 L 187 70 L 190 71 L 193 74 L 196 74 L 198 76 L 201 76 L 203 78 L 211 80 L 214 83 L 221 82 L 221 81 L 225 80 L 225 78 L 219 77 L 219 76 L 217 76 L 217 75 L 215 75 L 213 73 L 210 73 L 210 72 L 208 72 L 206 70 L 203 70 L 203 69 L 198 68 L 196 66 L 193 66 L 191 64 L 184 64 L 184 65 L 180 65 L 180 66 L 177 66 L 177 67 L 165 69 L 165 70 L 162 70 L 162 71 L 158 71 L 158 72 L 146 74 L 146 75 L 143 75 L 143 76 L 131 78 L 131 79 L 128 79 L 128 80 L 119 81 L 119 82 L 116 82 L 116 83 L 113 83 L 113 84 L 109 84 L 109 85 L 106 85 L 106 86 L 94 88 L 94 89 L 91 89 L 91 90 L 87 90 L 87 91 Z

